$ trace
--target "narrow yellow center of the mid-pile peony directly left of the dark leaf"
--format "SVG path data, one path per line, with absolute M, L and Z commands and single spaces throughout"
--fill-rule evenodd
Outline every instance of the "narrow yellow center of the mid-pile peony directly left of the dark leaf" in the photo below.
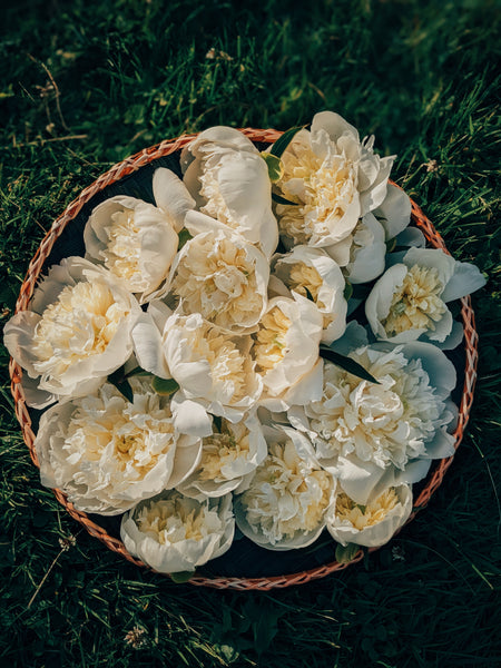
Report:
M 265 313 L 259 330 L 253 334 L 257 373 L 265 374 L 282 362 L 287 352 L 286 335 L 291 325 L 289 318 L 278 306 Z

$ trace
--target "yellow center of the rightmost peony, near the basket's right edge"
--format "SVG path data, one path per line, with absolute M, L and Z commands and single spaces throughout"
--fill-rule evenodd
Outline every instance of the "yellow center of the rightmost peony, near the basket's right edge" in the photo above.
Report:
M 440 298 L 443 285 L 436 268 L 413 265 L 393 295 L 390 313 L 382 324 L 390 336 L 407 330 L 434 330 L 446 311 Z

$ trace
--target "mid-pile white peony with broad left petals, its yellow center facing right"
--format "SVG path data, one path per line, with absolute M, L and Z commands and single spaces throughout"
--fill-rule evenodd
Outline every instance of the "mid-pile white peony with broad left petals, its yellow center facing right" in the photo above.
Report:
M 230 335 L 198 314 L 174 314 L 161 331 L 144 314 L 132 331 L 143 369 L 160 377 L 174 377 L 180 390 L 173 399 L 176 425 L 183 433 L 212 433 L 207 412 L 230 422 L 242 420 L 263 390 L 254 371 L 248 335 Z

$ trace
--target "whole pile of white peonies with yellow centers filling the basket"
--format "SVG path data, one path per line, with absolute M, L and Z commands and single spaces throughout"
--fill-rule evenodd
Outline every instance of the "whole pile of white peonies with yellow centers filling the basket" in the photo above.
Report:
M 131 554 L 194 571 L 235 525 L 269 550 L 381 546 L 453 454 L 470 264 L 409 227 L 393 157 L 337 114 L 259 153 L 214 127 L 99 204 L 4 330 L 42 484 L 122 514 Z

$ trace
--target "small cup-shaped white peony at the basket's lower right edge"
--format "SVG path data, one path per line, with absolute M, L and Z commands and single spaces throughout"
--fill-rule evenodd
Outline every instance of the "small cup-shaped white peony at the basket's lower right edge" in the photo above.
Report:
M 387 488 L 364 504 L 340 490 L 327 513 L 327 531 L 342 546 L 377 548 L 405 524 L 411 512 L 412 491 L 406 484 Z

